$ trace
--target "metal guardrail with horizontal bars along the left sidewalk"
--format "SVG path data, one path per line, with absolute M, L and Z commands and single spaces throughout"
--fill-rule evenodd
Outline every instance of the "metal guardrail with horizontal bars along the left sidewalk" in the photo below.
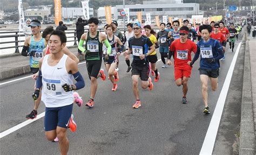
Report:
M 104 32 L 104 29 L 97 29 L 100 32 Z M 127 31 L 126 29 L 118 29 L 120 32 L 123 32 L 123 35 L 125 33 L 125 31 Z M 85 29 L 84 32 L 88 32 L 89 29 Z M 43 32 L 43 30 L 41 30 L 41 33 Z M 10 34 L 10 35 L 3 35 L 1 36 L 1 34 L 4 33 L 15 33 L 15 34 Z M 76 29 L 69 29 L 65 31 L 66 34 L 73 34 L 73 36 L 71 37 L 67 37 L 67 42 L 74 42 L 73 45 L 77 45 L 77 36 L 76 36 Z M 3 41 L 0 42 L 0 50 L 3 49 L 8 49 L 8 48 L 15 48 L 15 52 L 14 53 L 19 53 L 19 47 L 23 47 L 23 45 L 19 45 L 19 43 L 23 43 L 25 40 L 19 40 L 19 37 L 24 37 L 24 33 L 23 32 L 19 32 L 19 31 L 13 31 L 13 30 L 6 30 L 6 32 L 0 32 L 0 38 L 14 38 L 14 41 Z M 68 38 L 73 38 L 73 40 L 68 39 Z M 4 40 L 4 39 L 3 39 Z M 3 44 L 10 44 L 10 43 L 15 43 L 15 46 L 7 46 L 7 47 L 3 47 Z

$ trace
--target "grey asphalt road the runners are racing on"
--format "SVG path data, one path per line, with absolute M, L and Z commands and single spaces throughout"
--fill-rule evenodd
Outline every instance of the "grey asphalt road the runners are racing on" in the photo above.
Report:
M 240 40 L 235 44 L 234 51 L 239 42 Z M 210 115 L 203 114 L 199 60 L 194 64 L 188 81 L 188 104 L 181 104 L 182 87 L 176 86 L 174 82 L 173 66 L 161 68 L 163 63 L 159 61 L 159 82 L 153 82 L 152 91 L 139 87 L 142 107 L 133 109 L 135 99 L 132 93 L 131 73 L 125 72 L 127 66 L 124 57 L 120 57 L 118 90 L 111 91 L 112 83 L 109 80 L 98 79 L 95 107 L 88 109 L 84 105 L 80 108 L 77 105 L 73 106 L 78 128 L 75 133 L 68 132 L 69 154 L 199 154 L 233 55 L 234 53 L 228 49 L 226 61 L 221 62 L 218 90 L 213 92 L 211 87 L 208 87 Z M 85 64 L 79 65 L 79 71 L 85 79 L 86 86 L 78 90 L 78 93 L 86 102 L 90 97 L 90 82 Z M 240 74 L 238 70 L 234 71 L 236 77 Z M 241 78 L 232 80 L 234 82 L 231 82 L 231 89 L 228 91 L 230 99 L 226 100 L 230 103 L 233 102 L 232 98 L 239 97 L 238 90 L 242 87 Z M 33 108 L 31 94 L 34 83 L 31 78 L 26 78 L 0 86 L 0 132 L 26 121 L 25 115 Z M 230 106 L 232 104 L 226 104 L 224 112 L 230 112 Z M 38 114 L 44 112 L 44 108 L 41 102 Z M 235 139 L 227 136 L 233 135 L 233 131 L 230 131 L 232 134 L 228 132 L 228 126 L 239 124 L 239 108 L 233 107 L 233 111 L 237 112 L 234 114 L 236 117 L 228 118 L 226 113 L 223 114 L 220 133 L 218 132 L 217 136 L 218 143 L 215 143 L 218 150 L 225 150 L 226 147 L 227 154 L 233 153 L 232 142 Z M 58 143 L 49 142 L 44 136 L 43 118 L 1 138 L 1 154 L 59 154 Z M 235 122 L 229 122 L 232 120 Z M 231 128 L 233 129 L 233 126 Z M 223 129 L 228 131 L 224 132 Z M 230 148 L 227 148 L 228 146 Z M 218 154 L 218 150 L 214 147 L 215 154 Z

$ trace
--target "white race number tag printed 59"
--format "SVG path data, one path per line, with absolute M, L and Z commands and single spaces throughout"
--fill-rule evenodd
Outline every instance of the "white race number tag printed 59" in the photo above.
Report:
M 43 78 L 43 86 L 46 94 L 62 95 L 62 85 L 60 80 L 50 80 Z

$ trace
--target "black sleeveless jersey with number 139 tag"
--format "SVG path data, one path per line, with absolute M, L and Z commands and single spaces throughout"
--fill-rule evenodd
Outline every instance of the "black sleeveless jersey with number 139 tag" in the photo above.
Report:
M 102 43 L 99 42 L 99 31 L 97 31 L 95 38 L 91 38 L 90 33 L 87 32 L 85 49 L 90 51 L 85 55 L 86 60 L 102 60 Z

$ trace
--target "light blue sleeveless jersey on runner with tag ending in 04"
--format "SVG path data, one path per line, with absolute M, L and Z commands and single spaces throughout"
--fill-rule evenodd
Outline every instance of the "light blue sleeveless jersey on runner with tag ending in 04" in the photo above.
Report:
M 39 68 L 39 60 L 43 57 L 43 50 L 45 48 L 44 38 L 41 37 L 39 41 L 35 41 L 31 36 L 29 52 L 35 51 L 35 55 L 30 56 L 29 62 L 31 68 Z

